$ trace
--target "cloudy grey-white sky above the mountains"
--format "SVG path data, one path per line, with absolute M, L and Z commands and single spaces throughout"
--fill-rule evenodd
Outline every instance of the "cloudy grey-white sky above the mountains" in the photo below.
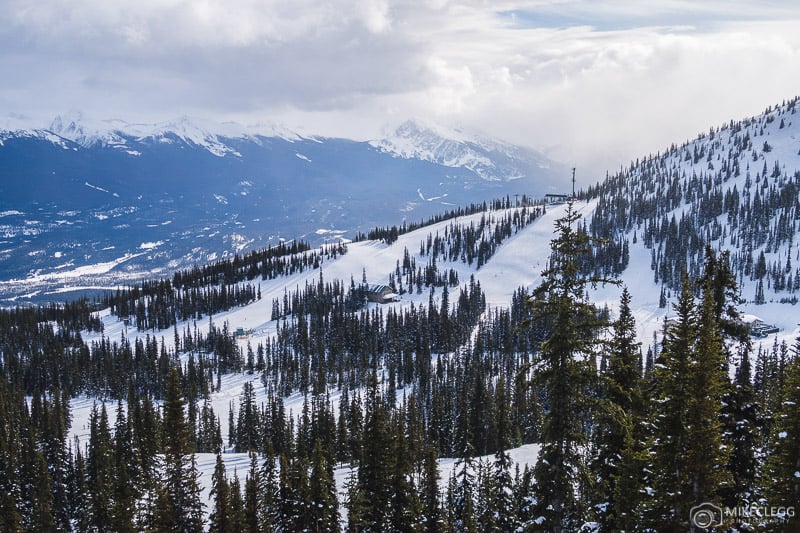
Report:
M 800 95 L 796 0 L 3 0 L 3 117 L 379 137 L 407 118 L 587 173 Z

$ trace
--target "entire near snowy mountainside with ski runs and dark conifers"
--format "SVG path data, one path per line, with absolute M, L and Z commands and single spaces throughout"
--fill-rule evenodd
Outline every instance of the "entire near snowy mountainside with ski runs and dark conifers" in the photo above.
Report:
M 800 527 L 793 112 L 574 203 L 0 311 L 0 529 L 686 531 L 701 504 Z M 754 341 L 743 309 L 784 330 Z

